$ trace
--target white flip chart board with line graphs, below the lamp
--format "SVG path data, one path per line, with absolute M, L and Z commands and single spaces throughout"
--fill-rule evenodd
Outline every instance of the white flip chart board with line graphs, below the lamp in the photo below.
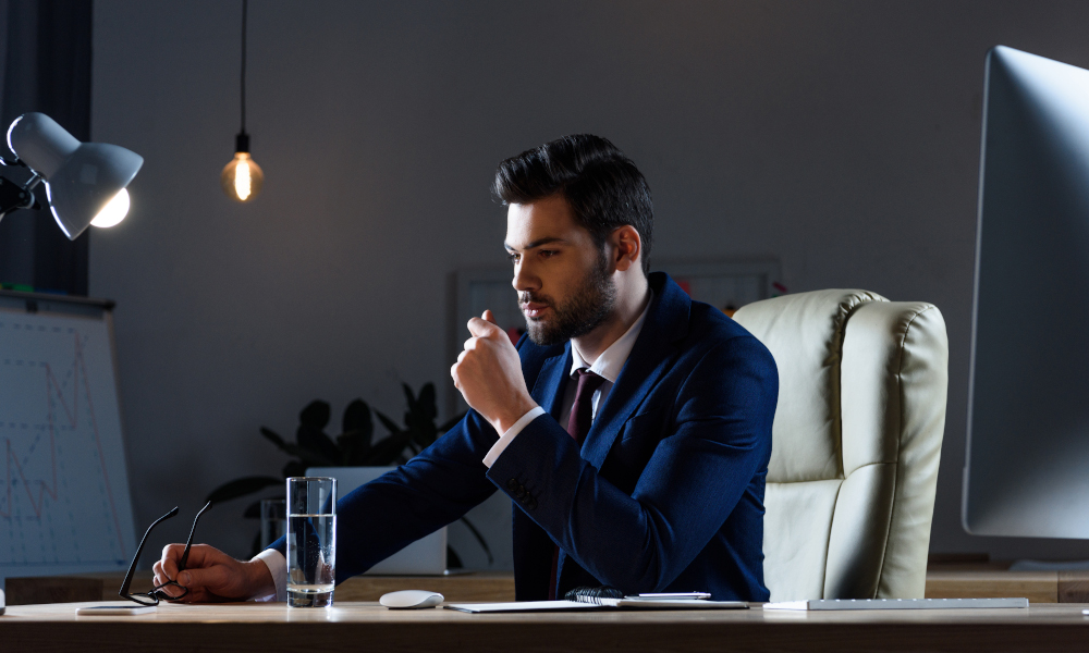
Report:
M 0 580 L 135 552 L 111 306 L 0 292 Z

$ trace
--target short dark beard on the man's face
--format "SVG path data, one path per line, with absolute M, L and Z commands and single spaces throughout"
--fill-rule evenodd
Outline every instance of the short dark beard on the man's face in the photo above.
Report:
M 608 266 L 602 252 L 598 264 L 563 303 L 546 295 L 521 293 L 518 300 L 522 304 L 535 301 L 552 309 L 553 317 L 548 321 L 526 317 L 529 340 L 536 345 L 559 345 L 585 335 L 604 322 L 616 306 L 616 284 L 609 274 Z

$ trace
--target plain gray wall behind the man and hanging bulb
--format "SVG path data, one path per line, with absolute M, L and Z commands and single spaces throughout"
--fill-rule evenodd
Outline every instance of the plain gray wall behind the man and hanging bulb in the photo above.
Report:
M 649 180 L 659 258 L 774 256 L 794 292 L 942 309 L 932 551 L 1089 556 L 959 525 L 983 56 L 1005 44 L 1086 66 L 1087 24 L 1089 4 L 1038 0 L 262 0 L 248 126 L 266 186 L 241 206 L 218 181 L 238 3 L 97 0 L 93 134 L 146 159 L 90 264 L 91 294 L 118 300 L 138 522 L 274 472 L 257 427 L 290 432 L 310 398 L 399 414 L 400 381 L 452 392 L 446 276 L 502 264 L 495 163 L 592 132 Z M 243 553 L 241 507 L 201 539 Z

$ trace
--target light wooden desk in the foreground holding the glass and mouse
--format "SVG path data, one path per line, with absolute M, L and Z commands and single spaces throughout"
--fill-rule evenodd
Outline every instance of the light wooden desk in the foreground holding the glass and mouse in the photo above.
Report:
M 787 613 L 760 609 L 470 615 L 338 602 L 163 605 L 136 617 L 76 617 L 74 604 L 8 608 L 3 651 L 1084 651 L 1086 605 L 1026 609 Z

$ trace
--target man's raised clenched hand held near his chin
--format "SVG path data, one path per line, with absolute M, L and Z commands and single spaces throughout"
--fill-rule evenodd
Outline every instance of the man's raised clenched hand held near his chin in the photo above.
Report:
M 502 435 L 537 402 L 526 390 L 518 352 L 490 310 L 484 311 L 484 319 L 469 320 L 469 333 L 473 337 L 465 341 L 450 375 L 465 402 Z

